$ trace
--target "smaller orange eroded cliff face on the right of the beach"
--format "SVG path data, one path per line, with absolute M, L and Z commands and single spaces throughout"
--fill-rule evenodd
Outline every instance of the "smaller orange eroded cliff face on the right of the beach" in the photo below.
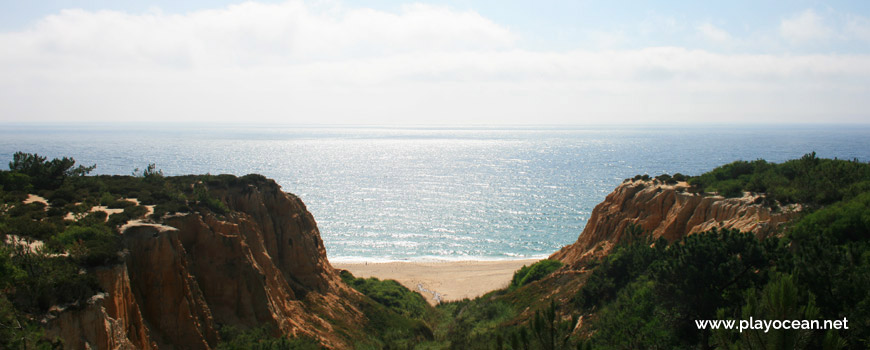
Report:
M 732 228 L 764 237 L 776 234 L 779 226 L 800 210 L 799 206 L 790 206 L 774 211 L 760 204 L 759 196 L 753 194 L 723 198 L 689 193 L 687 188 L 685 182 L 622 183 L 595 206 L 577 242 L 563 247 L 550 259 L 580 268 L 590 259 L 607 254 L 629 224 L 639 225 L 652 239 L 663 237 L 671 242 L 713 228 Z

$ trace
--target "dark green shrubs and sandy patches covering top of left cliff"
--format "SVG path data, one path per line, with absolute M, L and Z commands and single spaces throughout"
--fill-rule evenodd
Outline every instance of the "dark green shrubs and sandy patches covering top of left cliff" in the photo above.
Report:
M 122 225 L 176 213 L 221 218 L 224 190 L 277 189 L 260 175 L 164 177 L 150 165 L 133 176 L 85 176 L 93 169 L 16 153 L 0 171 L 0 348 L 58 345 L 43 336 L 44 319 L 100 298 L 95 271 L 124 261 Z M 274 344 L 297 344 L 285 343 Z

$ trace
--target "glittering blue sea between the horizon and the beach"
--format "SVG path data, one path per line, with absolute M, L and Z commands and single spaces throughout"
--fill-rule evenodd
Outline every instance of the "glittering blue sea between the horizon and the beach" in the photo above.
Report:
M 868 161 L 870 127 L 2 125 L 0 162 L 16 151 L 97 174 L 263 174 L 303 199 L 333 261 L 521 259 L 574 242 L 625 178 L 813 151 Z

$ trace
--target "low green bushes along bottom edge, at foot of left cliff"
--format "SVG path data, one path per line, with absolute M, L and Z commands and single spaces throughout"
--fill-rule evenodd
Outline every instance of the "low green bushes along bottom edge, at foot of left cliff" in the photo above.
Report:
M 311 338 L 272 337 L 266 327 L 241 330 L 224 325 L 220 328 L 218 350 L 318 350 L 320 343 Z

